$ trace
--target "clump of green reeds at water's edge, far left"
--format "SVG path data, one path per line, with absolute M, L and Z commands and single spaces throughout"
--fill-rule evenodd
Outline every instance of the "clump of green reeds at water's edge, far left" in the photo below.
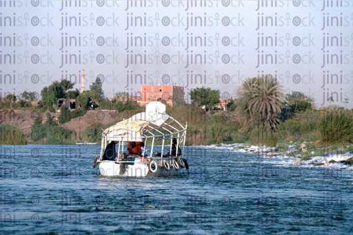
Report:
M 19 128 L 0 126 L 0 144 L 27 144 L 26 135 Z

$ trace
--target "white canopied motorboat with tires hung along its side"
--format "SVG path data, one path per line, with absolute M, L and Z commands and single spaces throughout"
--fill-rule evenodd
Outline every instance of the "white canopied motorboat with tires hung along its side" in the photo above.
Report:
M 103 131 L 101 153 L 95 157 L 92 167 L 98 166 L 103 176 L 177 176 L 184 168 L 188 169 L 188 163 L 183 159 L 187 128 L 188 122 L 183 126 L 165 113 L 165 104 L 150 102 L 145 112 Z M 154 146 L 156 142 L 161 146 Z M 111 147 L 107 146 L 117 148 L 117 151 L 111 150 L 115 151 L 114 159 L 109 158 Z

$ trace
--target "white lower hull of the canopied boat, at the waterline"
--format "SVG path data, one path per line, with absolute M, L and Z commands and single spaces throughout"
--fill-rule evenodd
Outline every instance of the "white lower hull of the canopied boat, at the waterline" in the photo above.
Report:
M 133 165 L 132 165 L 133 164 Z M 103 176 L 123 176 L 123 177 L 169 177 L 169 176 L 178 176 L 183 168 L 179 170 L 165 170 L 162 166 L 158 165 L 156 172 L 151 172 L 148 169 L 148 164 L 141 164 L 140 159 L 132 161 L 130 164 L 126 164 L 126 170 L 121 172 L 120 164 L 116 161 L 99 161 L 99 171 Z

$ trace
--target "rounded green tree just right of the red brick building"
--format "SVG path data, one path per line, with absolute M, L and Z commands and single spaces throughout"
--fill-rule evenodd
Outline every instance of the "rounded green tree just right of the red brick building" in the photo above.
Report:
M 212 90 L 210 87 L 198 87 L 190 91 L 191 104 L 195 107 L 207 106 L 210 109 L 214 107 L 215 104 L 219 103 L 220 97 L 219 90 Z

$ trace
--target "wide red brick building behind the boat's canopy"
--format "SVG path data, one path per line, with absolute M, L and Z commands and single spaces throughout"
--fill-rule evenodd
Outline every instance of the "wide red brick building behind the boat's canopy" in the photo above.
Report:
M 154 86 L 145 85 L 141 86 L 141 91 L 137 91 L 141 94 L 141 99 L 138 101 L 141 106 L 158 100 L 165 100 L 171 107 L 179 102 L 184 102 L 184 87 L 176 86 Z

